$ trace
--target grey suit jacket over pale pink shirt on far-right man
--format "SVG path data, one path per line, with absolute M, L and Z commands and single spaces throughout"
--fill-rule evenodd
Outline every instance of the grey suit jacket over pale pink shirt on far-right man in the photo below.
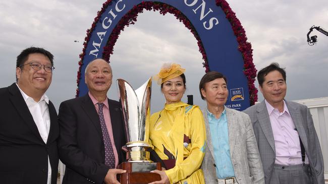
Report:
M 296 102 L 286 101 L 286 105 L 304 145 L 313 183 L 324 183 L 323 158 L 310 111 L 306 106 Z M 244 112 L 251 118 L 263 164 L 265 183 L 268 184 L 274 169 L 276 148 L 265 102 L 251 106 Z

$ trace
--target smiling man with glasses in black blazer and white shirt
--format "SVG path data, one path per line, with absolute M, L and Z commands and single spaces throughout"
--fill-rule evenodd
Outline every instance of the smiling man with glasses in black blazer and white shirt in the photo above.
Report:
M 57 182 L 59 126 L 44 94 L 53 55 L 30 47 L 17 56 L 16 83 L 0 89 L 0 183 Z

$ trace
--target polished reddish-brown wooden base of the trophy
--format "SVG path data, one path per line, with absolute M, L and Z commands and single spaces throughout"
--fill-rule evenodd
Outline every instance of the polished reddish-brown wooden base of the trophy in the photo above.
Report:
M 151 170 L 161 170 L 159 162 L 123 162 L 118 168 L 127 172 L 120 174 L 121 184 L 146 184 L 161 180 L 160 175 L 150 172 Z

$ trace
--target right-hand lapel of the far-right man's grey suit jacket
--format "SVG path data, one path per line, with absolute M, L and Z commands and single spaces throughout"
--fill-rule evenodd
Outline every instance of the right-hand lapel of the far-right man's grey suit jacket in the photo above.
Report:
M 305 150 L 307 150 L 307 147 L 308 147 L 307 136 L 306 136 L 305 129 L 303 126 L 302 115 L 299 113 L 300 111 L 298 110 L 297 106 L 289 106 L 289 103 L 287 101 L 285 101 L 285 102 L 286 102 L 288 111 L 293 119 L 294 125 L 297 129 L 298 135 L 300 136 L 300 138 L 302 140 L 303 146 L 304 146 Z

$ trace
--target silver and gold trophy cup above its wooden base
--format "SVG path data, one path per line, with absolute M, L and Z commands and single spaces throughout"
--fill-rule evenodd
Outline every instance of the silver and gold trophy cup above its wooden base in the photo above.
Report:
M 128 141 L 122 147 L 127 152 L 127 161 L 151 163 L 149 151 L 153 146 L 148 143 L 151 78 L 137 90 L 123 79 L 117 79 L 117 85 Z

